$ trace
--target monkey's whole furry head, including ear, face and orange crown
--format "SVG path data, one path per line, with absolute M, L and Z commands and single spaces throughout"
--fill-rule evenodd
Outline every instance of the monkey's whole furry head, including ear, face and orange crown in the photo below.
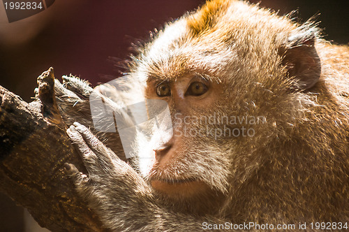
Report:
M 221 196 L 251 180 L 313 103 L 320 77 L 316 30 L 243 1 L 209 1 L 140 48 L 131 72 L 145 95 L 168 103 L 172 136 L 142 152 L 161 196 Z M 291 129 L 290 129 L 291 130 Z

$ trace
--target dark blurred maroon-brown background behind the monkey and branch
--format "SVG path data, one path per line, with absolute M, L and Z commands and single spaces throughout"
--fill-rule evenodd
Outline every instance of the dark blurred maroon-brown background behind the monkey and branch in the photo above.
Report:
M 47 0 L 48 1 L 48 0 Z M 5 1 L 4 1 L 5 2 Z M 50 0 L 40 13 L 8 22 L 0 2 L 0 85 L 31 101 L 36 78 L 50 66 L 56 78 L 80 76 L 92 85 L 117 78 L 128 59 L 131 43 L 147 41 L 154 28 L 194 10 L 203 0 Z M 318 15 L 325 38 L 348 43 L 349 19 L 346 1 L 262 0 L 260 6 L 304 22 Z M 320 15 L 319 15 L 320 14 Z M 1 149 L 1 147 L 0 147 Z M 40 199 L 38 199 L 40 201 Z M 40 231 L 29 214 L 0 194 L 0 231 Z

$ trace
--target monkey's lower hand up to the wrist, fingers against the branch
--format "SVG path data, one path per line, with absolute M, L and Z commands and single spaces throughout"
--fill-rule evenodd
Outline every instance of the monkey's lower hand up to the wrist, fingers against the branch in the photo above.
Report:
M 135 219 L 140 215 L 148 215 L 150 219 L 154 208 L 149 185 L 82 124 L 75 122 L 67 133 L 82 154 L 88 172 L 88 175 L 81 173 L 73 164 L 65 166 L 78 194 L 107 228 L 141 229 L 140 221 Z

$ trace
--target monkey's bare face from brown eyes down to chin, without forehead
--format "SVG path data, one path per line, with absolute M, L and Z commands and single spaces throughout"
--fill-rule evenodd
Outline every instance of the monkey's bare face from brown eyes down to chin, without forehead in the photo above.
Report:
M 226 189 L 229 162 L 217 151 L 216 142 L 208 143 L 214 138 L 207 132 L 214 126 L 206 121 L 222 90 L 218 82 L 194 72 L 177 80 L 147 81 L 147 98 L 166 101 L 172 118 L 172 136 L 151 148 L 154 163 L 148 177 L 157 191 L 186 198 L 207 194 L 214 187 Z M 217 166 L 221 173 L 214 173 Z

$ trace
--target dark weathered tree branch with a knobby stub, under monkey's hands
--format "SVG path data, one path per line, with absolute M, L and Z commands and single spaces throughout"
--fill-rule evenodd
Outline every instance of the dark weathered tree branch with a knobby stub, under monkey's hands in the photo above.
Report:
M 0 86 L 0 190 L 50 231 L 105 231 L 64 175 L 84 170 L 66 134 L 50 68 L 38 78 L 38 99 L 26 103 Z

